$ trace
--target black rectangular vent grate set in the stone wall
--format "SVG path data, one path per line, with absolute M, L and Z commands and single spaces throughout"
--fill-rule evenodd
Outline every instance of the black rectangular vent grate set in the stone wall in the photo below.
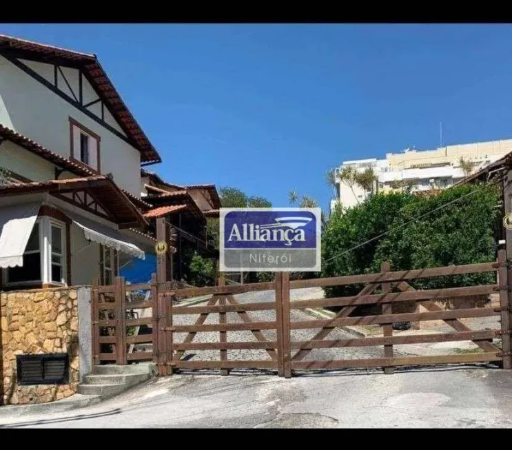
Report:
M 67 353 L 17 355 L 19 385 L 61 385 L 68 382 Z

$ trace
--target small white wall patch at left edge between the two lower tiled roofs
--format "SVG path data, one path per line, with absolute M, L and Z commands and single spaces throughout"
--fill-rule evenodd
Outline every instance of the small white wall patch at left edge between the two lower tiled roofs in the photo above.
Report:
M 0 144 L 0 167 L 32 181 L 52 180 L 54 165 L 10 141 Z

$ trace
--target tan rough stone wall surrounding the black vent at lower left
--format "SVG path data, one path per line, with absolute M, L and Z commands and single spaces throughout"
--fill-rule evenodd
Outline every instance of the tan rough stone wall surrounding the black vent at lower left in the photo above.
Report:
M 72 396 L 79 382 L 79 322 L 76 288 L 34 289 L 0 294 L 3 405 L 43 403 Z M 65 385 L 18 385 L 16 356 L 65 353 Z

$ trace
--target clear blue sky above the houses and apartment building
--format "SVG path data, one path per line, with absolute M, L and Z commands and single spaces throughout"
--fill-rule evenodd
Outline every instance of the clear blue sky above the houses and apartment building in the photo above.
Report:
M 172 183 L 325 209 L 325 172 L 414 145 L 512 138 L 512 25 L 10 24 L 98 55 Z

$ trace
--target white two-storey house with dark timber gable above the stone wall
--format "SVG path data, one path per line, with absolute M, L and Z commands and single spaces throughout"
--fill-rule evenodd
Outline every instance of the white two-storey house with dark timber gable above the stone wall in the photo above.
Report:
M 94 54 L 0 35 L 1 289 L 110 283 L 154 252 L 160 161 Z

